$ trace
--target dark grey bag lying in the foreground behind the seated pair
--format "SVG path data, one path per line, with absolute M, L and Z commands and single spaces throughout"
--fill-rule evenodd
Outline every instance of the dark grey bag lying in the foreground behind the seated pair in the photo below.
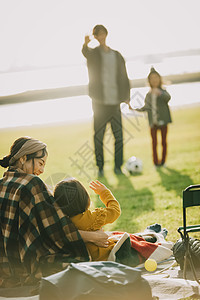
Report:
M 110 261 L 71 263 L 42 278 L 40 300 L 150 300 L 149 283 L 134 268 Z

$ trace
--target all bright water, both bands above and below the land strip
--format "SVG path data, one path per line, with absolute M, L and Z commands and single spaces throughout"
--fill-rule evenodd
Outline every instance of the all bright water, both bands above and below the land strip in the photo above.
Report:
M 128 62 L 130 79 L 144 78 L 151 64 Z M 198 72 L 200 57 L 168 58 L 154 64 L 162 74 Z M 0 95 L 9 95 L 27 90 L 85 85 L 88 83 L 85 65 L 68 68 L 46 69 L 40 71 L 0 74 Z M 200 103 L 200 82 L 166 86 L 171 95 L 171 108 Z M 148 87 L 131 90 L 132 105 L 138 107 L 148 91 Z M 138 94 L 139 93 L 139 94 Z M 139 95 L 139 102 L 137 103 Z M 126 113 L 126 110 L 124 110 Z M 92 119 L 91 99 L 88 96 L 45 100 L 19 104 L 0 105 L 0 128 L 34 126 L 59 122 L 78 122 Z

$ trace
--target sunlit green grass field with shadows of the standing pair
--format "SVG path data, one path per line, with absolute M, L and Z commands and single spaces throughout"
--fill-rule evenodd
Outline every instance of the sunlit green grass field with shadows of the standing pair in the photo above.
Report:
M 105 135 L 105 183 L 121 205 L 122 214 L 108 230 L 131 233 L 143 231 L 148 225 L 160 223 L 168 229 L 168 240 L 179 238 L 182 225 L 182 190 L 200 183 L 200 107 L 172 112 L 173 123 L 168 131 L 168 168 L 155 170 L 152 164 L 151 139 L 146 116 L 123 118 L 124 161 L 135 155 L 143 161 L 138 176 L 116 176 L 113 173 L 113 138 L 108 128 Z M 93 153 L 92 122 L 56 126 L 25 127 L 0 130 L 0 155 L 8 154 L 12 142 L 24 135 L 46 142 L 49 158 L 41 178 L 51 186 L 67 175 L 78 178 L 89 190 L 91 179 L 97 178 Z M 161 150 L 161 149 L 159 149 Z M 72 164 L 76 160 L 76 164 Z M 0 176 L 3 175 L 0 170 Z M 89 191 L 94 206 L 100 200 Z M 200 222 L 200 211 L 193 209 L 190 223 Z

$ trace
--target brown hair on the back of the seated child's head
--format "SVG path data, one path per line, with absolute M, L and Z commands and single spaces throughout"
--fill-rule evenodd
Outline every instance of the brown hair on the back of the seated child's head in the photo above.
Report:
M 69 217 L 83 213 L 90 205 L 86 189 L 75 178 L 60 181 L 54 189 L 54 199 L 63 213 Z

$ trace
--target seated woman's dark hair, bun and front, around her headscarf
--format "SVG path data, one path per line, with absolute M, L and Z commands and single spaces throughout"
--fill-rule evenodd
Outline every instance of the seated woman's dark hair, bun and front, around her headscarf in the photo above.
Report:
M 25 142 L 29 139 L 30 139 L 29 137 L 21 137 L 21 138 L 18 138 L 16 141 L 14 141 L 13 145 L 10 148 L 10 154 L 7 156 L 4 156 L 3 159 L 0 159 L 0 166 L 2 166 L 3 168 L 9 167 L 10 166 L 9 161 L 10 161 L 11 157 L 14 156 L 19 151 L 19 149 L 25 144 Z M 34 158 L 42 158 L 46 154 L 47 154 L 47 150 L 46 150 L 46 148 L 44 148 L 44 149 L 42 149 L 42 154 L 40 156 L 38 156 L 38 151 L 37 151 L 32 154 L 27 154 L 26 158 L 27 158 L 27 160 L 30 160 L 30 159 L 33 160 L 33 167 L 34 167 Z M 17 161 L 15 161 L 13 165 L 15 165 L 16 162 Z

